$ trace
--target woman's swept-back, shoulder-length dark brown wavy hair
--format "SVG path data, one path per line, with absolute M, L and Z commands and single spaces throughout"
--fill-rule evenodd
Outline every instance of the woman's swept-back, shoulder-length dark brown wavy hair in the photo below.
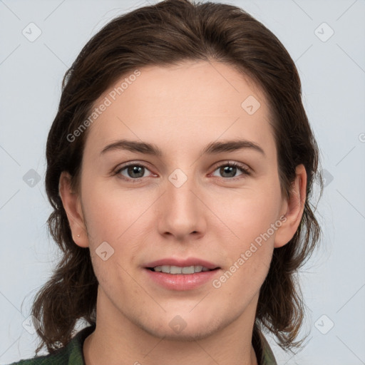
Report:
M 219 61 L 237 68 L 262 88 L 272 113 L 282 192 L 289 196 L 295 168 L 307 170 L 307 199 L 299 229 L 284 247 L 276 248 L 260 289 L 255 331 L 266 327 L 283 349 L 295 342 L 304 315 L 296 284 L 299 267 L 312 255 L 320 228 L 309 202 L 319 153 L 302 105 L 297 68 L 274 34 L 242 9 L 212 2 L 166 0 L 135 9 L 110 21 L 83 47 L 62 83 L 58 113 L 46 145 L 46 192 L 53 207 L 48 227 L 63 257 L 51 279 L 37 293 L 32 314 L 50 353 L 66 346 L 76 322 L 96 321 L 98 281 L 88 248 L 73 242 L 58 195 L 62 171 L 78 185 L 88 130 L 69 141 L 93 110 L 93 103 L 118 78 L 143 66 L 168 66 L 183 61 Z M 322 192 L 322 180 L 319 177 Z M 312 210 L 313 207 L 313 210 Z

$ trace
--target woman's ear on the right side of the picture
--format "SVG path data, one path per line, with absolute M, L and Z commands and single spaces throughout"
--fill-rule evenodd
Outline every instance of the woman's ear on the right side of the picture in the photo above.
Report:
M 282 247 L 292 240 L 302 220 L 307 195 L 307 172 L 304 165 L 298 165 L 295 173 L 290 196 L 285 204 L 287 212 L 284 210 L 285 218 L 275 235 L 274 247 Z

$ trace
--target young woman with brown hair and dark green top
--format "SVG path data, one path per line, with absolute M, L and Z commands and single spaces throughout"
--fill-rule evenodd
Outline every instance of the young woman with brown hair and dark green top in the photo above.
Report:
M 66 73 L 46 157 L 63 258 L 32 309 L 50 354 L 18 364 L 276 364 L 263 329 L 301 344 L 318 148 L 259 21 L 187 0 L 110 21 Z

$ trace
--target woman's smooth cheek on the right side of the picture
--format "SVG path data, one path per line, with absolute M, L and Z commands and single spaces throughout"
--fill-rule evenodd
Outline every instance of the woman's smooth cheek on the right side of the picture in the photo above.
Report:
M 232 295 L 239 290 L 238 296 L 254 294 L 261 287 L 272 259 L 275 233 L 280 226 L 275 225 L 280 201 L 279 186 L 274 184 L 245 190 L 234 199 L 227 200 L 226 196 L 215 201 L 212 209 L 225 222 L 217 227 L 222 227 L 221 238 L 224 237 L 225 245 L 221 249 L 226 265 L 214 287 L 225 285 L 225 290 Z

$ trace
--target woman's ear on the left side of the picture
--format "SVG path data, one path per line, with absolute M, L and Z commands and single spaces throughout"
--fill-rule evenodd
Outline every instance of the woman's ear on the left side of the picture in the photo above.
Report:
M 81 199 L 79 194 L 72 190 L 71 175 L 66 171 L 61 173 L 58 190 L 71 227 L 73 242 L 80 247 L 88 247 L 88 235 L 81 209 Z

